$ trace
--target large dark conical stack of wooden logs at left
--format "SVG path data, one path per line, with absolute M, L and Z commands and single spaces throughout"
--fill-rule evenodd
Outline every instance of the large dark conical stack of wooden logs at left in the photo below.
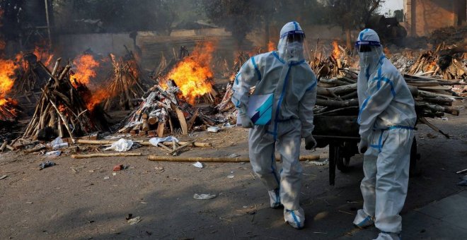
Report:
M 48 140 L 56 136 L 69 137 L 103 130 L 104 119 L 94 119 L 86 109 L 79 92 L 71 85 L 67 73 L 71 65 L 59 68 L 59 58 L 48 80 L 42 88 L 42 95 L 35 107 L 33 118 L 25 129 L 23 138 Z

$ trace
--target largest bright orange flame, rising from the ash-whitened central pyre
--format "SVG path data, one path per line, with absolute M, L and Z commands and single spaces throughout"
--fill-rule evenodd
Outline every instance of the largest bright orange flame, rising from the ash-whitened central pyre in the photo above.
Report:
M 192 54 L 180 61 L 164 78 L 173 79 L 190 104 L 195 103 L 196 97 L 212 90 L 212 83 L 209 81 L 209 78 L 214 76 L 209 67 L 212 52 L 214 52 L 213 42 L 197 44 Z

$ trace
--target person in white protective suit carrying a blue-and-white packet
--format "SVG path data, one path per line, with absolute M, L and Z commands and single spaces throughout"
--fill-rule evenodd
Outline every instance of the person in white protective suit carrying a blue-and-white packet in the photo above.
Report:
M 304 227 L 305 221 L 299 205 L 301 138 L 305 138 L 307 150 L 316 146 L 311 135 L 316 76 L 304 60 L 304 37 L 299 23 L 284 25 L 278 51 L 253 56 L 238 71 L 232 97 L 241 126 L 251 128 L 250 162 L 269 191 L 270 206 L 283 205 L 285 222 L 297 229 Z M 249 95 L 253 86 L 255 90 Z M 252 107 L 261 96 L 265 96 L 264 104 Z M 276 150 L 281 155 L 280 170 Z

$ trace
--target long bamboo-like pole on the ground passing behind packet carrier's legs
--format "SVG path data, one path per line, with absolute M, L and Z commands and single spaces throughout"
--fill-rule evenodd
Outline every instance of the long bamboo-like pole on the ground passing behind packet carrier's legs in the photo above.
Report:
M 300 161 L 319 159 L 319 155 L 300 156 Z M 172 157 L 157 155 L 149 155 L 148 160 L 167 162 L 250 162 L 248 157 Z M 277 157 L 276 161 L 279 162 L 280 158 Z

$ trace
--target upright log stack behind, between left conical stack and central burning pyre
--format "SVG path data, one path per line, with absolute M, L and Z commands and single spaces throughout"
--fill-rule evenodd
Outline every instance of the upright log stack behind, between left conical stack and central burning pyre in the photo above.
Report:
M 122 110 L 134 109 L 134 102 L 144 95 L 146 87 L 139 79 L 139 69 L 136 61 L 130 59 L 123 61 L 121 58 L 112 58 L 113 73 L 109 80 L 109 95 L 103 101 L 105 111 L 120 108 Z

